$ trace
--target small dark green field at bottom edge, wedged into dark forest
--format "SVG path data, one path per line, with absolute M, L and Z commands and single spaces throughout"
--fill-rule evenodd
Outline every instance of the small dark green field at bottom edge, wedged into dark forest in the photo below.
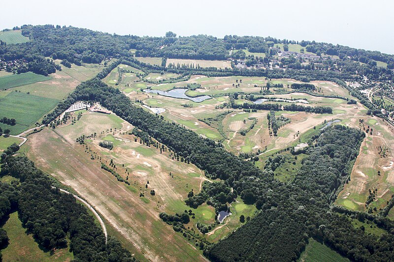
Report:
M 324 244 L 309 238 L 305 251 L 301 253 L 298 262 L 349 262 Z

